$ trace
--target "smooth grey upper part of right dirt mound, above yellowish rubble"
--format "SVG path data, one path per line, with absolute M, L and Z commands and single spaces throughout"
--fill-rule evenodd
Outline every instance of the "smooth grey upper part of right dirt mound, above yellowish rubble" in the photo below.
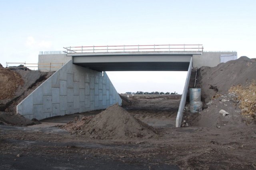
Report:
M 216 67 L 202 66 L 198 70 L 197 88 L 201 88 L 201 97 L 208 103 L 216 94 L 226 94 L 231 86 L 246 85 L 256 79 L 256 61 L 248 57 L 220 63 Z

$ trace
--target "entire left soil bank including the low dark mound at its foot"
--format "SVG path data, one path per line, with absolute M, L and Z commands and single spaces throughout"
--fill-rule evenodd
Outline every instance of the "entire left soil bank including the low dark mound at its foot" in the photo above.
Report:
M 0 65 L 0 124 L 32 125 L 35 122 L 16 115 L 16 106 L 49 78 L 53 72 L 4 68 Z

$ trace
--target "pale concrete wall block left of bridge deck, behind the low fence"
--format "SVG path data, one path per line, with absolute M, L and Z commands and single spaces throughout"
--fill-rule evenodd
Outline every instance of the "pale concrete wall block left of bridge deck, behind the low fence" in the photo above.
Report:
M 38 55 L 38 71 L 57 71 L 71 59 L 66 54 Z

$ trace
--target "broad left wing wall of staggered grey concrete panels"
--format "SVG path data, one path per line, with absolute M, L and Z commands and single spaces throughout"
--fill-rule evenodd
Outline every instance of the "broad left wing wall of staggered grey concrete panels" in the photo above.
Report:
M 70 60 L 17 106 L 17 113 L 38 120 L 106 109 L 122 104 L 106 72 L 77 66 Z

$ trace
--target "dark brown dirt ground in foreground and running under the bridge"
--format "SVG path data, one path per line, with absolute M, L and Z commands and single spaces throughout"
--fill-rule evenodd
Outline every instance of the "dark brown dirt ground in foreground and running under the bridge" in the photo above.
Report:
M 172 120 L 176 117 L 179 100 L 136 98 L 125 107 L 159 132 L 153 139 L 96 140 L 71 135 L 58 127 L 0 126 L 0 169 L 256 168 L 255 124 L 243 129 L 175 128 Z M 168 103 L 172 103 L 172 107 Z M 65 123 L 74 117 L 94 114 L 97 112 L 45 121 Z

